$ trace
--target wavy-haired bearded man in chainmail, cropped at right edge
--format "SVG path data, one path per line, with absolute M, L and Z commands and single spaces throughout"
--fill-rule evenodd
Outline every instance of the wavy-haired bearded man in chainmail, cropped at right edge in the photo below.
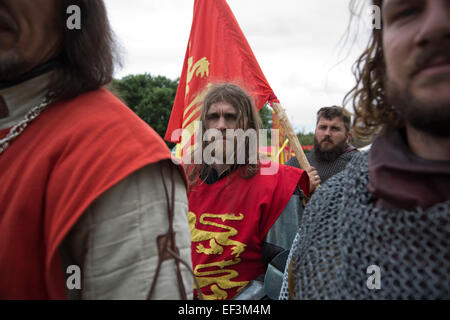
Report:
M 377 137 L 312 196 L 281 299 L 450 298 L 450 3 L 373 5 L 348 97 Z

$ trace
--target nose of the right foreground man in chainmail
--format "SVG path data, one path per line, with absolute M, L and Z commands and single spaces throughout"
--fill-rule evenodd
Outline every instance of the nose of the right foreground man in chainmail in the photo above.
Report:
M 442 41 L 450 41 L 450 4 L 447 0 L 429 1 L 416 43 L 423 46 Z

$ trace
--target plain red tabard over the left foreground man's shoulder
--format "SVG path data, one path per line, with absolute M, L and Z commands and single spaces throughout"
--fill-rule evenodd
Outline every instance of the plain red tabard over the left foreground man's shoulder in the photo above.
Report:
M 58 247 L 86 208 L 171 154 L 101 89 L 50 106 L 0 155 L 0 299 L 65 299 Z

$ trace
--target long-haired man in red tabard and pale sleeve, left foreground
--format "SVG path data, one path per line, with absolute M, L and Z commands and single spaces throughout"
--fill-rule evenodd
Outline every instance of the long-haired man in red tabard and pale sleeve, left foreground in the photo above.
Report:
M 0 1 L 0 299 L 192 297 L 184 171 L 102 88 L 115 48 L 102 0 Z

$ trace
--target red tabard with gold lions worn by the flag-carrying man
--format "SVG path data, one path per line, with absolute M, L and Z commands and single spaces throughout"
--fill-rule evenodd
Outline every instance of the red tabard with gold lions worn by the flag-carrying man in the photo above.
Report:
M 279 166 L 275 175 L 258 173 L 245 179 L 237 170 L 212 185 L 199 183 L 189 192 L 192 264 L 206 299 L 231 299 L 265 273 L 264 237 L 295 187 L 309 189 L 305 171 L 272 165 Z

